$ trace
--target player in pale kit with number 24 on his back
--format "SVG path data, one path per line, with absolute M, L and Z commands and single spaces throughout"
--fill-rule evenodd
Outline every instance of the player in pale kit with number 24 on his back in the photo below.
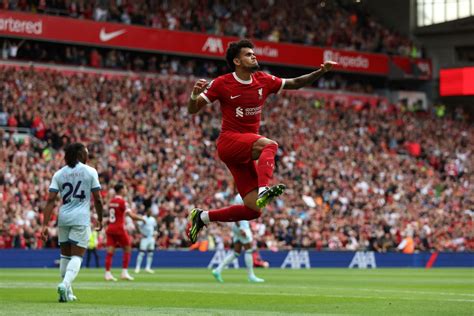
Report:
M 81 143 L 67 145 L 64 149 L 66 166 L 57 171 L 49 186 L 48 202 L 44 209 L 43 239 L 48 238 L 48 223 L 56 204 L 58 193 L 62 205 L 58 215 L 58 237 L 61 247 L 59 270 L 62 282 L 58 285 L 59 302 L 74 301 L 72 283 L 81 269 L 82 257 L 91 234 L 91 192 L 97 212 L 97 230 L 102 229 L 102 199 L 97 171 L 86 165 L 87 148 Z

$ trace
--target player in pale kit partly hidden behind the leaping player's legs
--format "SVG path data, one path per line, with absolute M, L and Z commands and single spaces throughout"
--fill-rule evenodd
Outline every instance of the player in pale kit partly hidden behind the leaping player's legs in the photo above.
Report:
M 237 195 L 234 200 L 234 204 L 243 204 L 240 195 Z M 262 283 L 264 279 L 258 278 L 253 271 L 253 237 L 252 230 L 248 221 L 238 221 L 232 224 L 232 241 L 234 243 L 234 251 L 228 254 L 224 260 L 219 264 L 217 268 L 212 270 L 212 275 L 218 282 L 223 283 L 222 270 L 235 259 L 239 258 L 242 249 L 245 251 L 244 260 L 245 266 L 247 267 L 247 276 L 249 282 Z

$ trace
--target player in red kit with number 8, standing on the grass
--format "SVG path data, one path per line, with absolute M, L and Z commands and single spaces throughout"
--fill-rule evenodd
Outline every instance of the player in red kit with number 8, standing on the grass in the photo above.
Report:
M 132 253 L 132 243 L 130 236 L 125 229 L 125 215 L 133 220 L 143 220 L 143 218 L 133 213 L 127 206 L 124 196 L 127 194 L 127 188 L 123 183 L 117 183 L 114 186 L 115 196 L 109 202 L 109 220 L 108 227 L 105 231 L 107 237 L 107 255 L 105 257 L 105 280 L 117 281 L 112 275 L 110 268 L 112 267 L 112 258 L 115 253 L 115 247 L 123 249 L 122 257 L 122 280 L 133 281 L 133 277 L 128 273 L 128 264 Z

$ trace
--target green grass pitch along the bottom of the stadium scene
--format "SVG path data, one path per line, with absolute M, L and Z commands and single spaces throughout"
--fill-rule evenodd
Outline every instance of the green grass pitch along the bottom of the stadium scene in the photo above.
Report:
M 0 315 L 474 315 L 474 269 L 160 269 L 135 281 L 80 271 L 79 301 L 58 303 L 58 269 L 0 269 Z M 119 270 L 114 271 L 119 275 Z M 133 275 L 133 274 L 132 274 Z

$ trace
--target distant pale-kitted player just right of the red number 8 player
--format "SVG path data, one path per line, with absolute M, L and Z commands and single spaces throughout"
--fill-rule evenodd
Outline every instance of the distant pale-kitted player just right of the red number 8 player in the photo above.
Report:
M 143 218 L 143 222 L 138 226 L 140 233 L 142 234 L 142 239 L 140 240 L 140 252 L 137 257 L 135 273 L 140 273 L 145 253 L 147 254 L 145 272 L 152 274 L 155 273 L 155 271 L 151 269 L 151 264 L 153 262 L 153 253 L 155 252 L 156 225 L 156 220 L 152 216 L 151 209 L 149 208 L 146 212 L 146 216 Z

